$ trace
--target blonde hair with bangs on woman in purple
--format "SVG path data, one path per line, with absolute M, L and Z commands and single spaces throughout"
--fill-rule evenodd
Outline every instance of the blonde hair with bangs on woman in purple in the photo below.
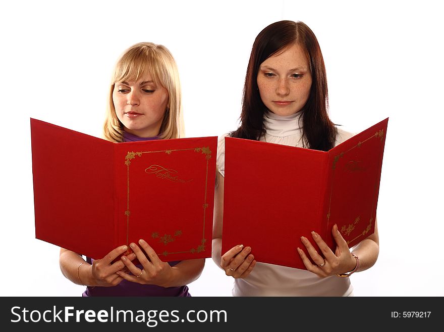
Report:
M 116 115 L 113 102 L 116 82 L 137 81 L 145 73 L 149 73 L 154 82 L 162 85 L 169 94 L 167 111 L 160 126 L 160 138 L 183 136 L 182 92 L 176 61 L 165 46 L 152 42 L 139 42 L 122 54 L 114 68 L 103 126 L 103 135 L 106 139 L 114 142 L 123 141 L 123 124 Z

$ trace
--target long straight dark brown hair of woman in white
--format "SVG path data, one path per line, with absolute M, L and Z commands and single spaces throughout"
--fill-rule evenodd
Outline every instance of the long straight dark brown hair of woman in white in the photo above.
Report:
M 335 145 L 337 129 L 328 117 L 328 89 L 324 60 L 316 36 L 303 22 L 279 21 L 268 25 L 256 37 L 251 50 L 242 99 L 241 125 L 233 137 L 258 140 L 265 133 L 263 104 L 257 86 L 262 62 L 289 46 L 299 44 L 310 65 L 310 96 L 302 108 L 303 142 L 313 150 L 328 151 Z

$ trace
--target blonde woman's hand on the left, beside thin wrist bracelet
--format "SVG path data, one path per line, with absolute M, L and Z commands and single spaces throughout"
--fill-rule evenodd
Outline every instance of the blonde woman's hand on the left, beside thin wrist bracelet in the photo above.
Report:
M 110 251 L 102 259 L 93 260 L 91 265 L 91 283 L 100 287 L 117 286 L 123 278 L 116 272 L 125 270 L 126 266 L 120 259 L 114 263 L 113 261 L 122 256 L 127 250 L 128 246 L 120 246 Z M 132 261 L 136 258 L 136 254 L 131 253 L 126 257 Z

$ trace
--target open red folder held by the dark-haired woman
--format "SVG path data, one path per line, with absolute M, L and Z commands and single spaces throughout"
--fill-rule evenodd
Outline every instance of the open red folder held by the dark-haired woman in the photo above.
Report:
M 301 236 L 335 251 L 335 223 L 349 248 L 374 233 L 387 123 L 328 152 L 226 137 L 222 252 L 243 244 L 259 262 L 306 269 Z

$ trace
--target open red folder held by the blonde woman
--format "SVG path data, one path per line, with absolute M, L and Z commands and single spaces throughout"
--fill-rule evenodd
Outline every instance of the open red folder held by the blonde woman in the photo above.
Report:
M 31 119 L 35 236 L 100 259 L 144 239 L 163 261 L 211 257 L 217 137 L 129 143 Z

